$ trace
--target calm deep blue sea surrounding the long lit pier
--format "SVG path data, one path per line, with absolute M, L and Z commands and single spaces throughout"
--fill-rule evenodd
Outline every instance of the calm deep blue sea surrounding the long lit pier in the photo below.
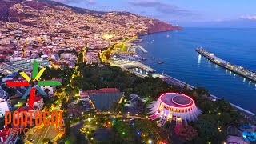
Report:
M 140 45 L 148 50 L 148 54 L 139 52 L 147 58 L 143 63 L 158 73 L 205 87 L 210 94 L 256 113 L 256 83 L 209 62 L 195 51 L 202 46 L 218 58 L 256 71 L 256 29 L 185 28 L 141 38 Z

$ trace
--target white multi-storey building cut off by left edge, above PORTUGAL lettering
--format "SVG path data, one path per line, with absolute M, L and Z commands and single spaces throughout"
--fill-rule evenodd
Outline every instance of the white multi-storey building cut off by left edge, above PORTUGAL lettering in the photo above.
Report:
M 2 87 L 0 86 L 0 118 L 4 117 L 5 112 L 10 110 L 12 110 L 10 98 L 6 91 L 2 90 Z

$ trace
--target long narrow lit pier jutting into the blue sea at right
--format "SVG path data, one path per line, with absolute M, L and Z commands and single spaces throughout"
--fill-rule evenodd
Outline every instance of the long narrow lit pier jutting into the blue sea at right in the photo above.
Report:
M 256 82 L 256 72 L 252 70 L 248 70 L 245 67 L 237 66 L 234 64 L 231 64 L 230 62 L 227 62 L 225 60 L 222 60 L 221 58 L 216 57 L 213 53 L 207 52 L 206 50 L 202 48 L 197 48 L 196 51 L 199 54 L 202 54 L 205 58 L 210 60 L 210 62 L 213 62 L 217 64 L 218 66 L 222 66 L 223 68 L 226 68 L 227 70 L 233 71 L 236 74 L 239 74 L 243 76 L 244 78 L 248 78 L 251 81 Z

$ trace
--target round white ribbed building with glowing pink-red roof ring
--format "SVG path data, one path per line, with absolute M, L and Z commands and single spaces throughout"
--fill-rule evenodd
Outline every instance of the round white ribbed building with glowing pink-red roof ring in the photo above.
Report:
M 195 106 L 192 98 L 185 94 L 165 93 L 157 101 L 151 102 L 147 107 L 151 120 L 158 119 L 158 126 L 163 126 L 167 121 L 174 120 L 176 125 L 187 124 L 187 121 L 195 121 L 201 110 Z

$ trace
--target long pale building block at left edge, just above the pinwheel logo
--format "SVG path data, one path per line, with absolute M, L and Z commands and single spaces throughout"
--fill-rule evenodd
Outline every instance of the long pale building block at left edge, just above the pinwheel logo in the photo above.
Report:
M 18 72 L 18 70 L 32 70 L 34 60 L 36 60 L 39 63 L 40 67 L 50 66 L 50 61 L 48 58 L 39 58 L 39 59 L 4 62 L 2 63 L 2 69 L 4 70 L 5 74 Z

